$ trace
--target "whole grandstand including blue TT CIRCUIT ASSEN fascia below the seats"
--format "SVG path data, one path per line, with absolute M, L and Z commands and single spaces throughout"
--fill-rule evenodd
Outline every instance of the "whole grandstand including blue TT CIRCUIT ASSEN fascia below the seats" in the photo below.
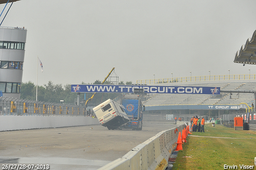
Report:
M 256 90 L 255 75 L 228 75 L 228 76 L 198 76 L 186 78 L 137 80 L 137 82 L 150 82 L 157 86 L 208 86 L 220 87 L 220 90 Z M 171 81 L 168 81 L 171 80 Z M 175 81 L 173 81 L 175 80 Z M 176 81 L 178 80 L 178 81 Z M 184 81 L 185 80 L 185 81 Z M 156 82 L 152 84 L 151 82 Z M 220 92 L 220 94 L 145 94 L 142 102 L 146 106 L 145 114 L 175 114 L 184 120 L 190 120 L 191 114 L 200 116 L 220 117 L 222 114 L 247 112 L 252 109 L 253 93 Z M 206 116 L 206 120 L 208 120 Z

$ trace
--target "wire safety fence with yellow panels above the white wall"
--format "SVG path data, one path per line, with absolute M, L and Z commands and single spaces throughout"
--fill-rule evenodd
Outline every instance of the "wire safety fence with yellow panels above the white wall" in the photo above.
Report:
M 85 106 L 0 97 L 0 116 L 86 116 Z

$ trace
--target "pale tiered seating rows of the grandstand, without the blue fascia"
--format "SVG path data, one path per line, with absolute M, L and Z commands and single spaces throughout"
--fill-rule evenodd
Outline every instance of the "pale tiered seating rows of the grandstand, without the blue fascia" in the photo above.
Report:
M 159 85 L 159 84 L 158 84 Z M 171 83 L 164 85 L 175 86 Z M 190 82 L 190 84 L 179 84 L 183 86 L 210 86 L 220 87 L 222 90 L 256 90 L 256 82 L 221 82 L 214 81 L 198 84 Z M 240 103 L 251 104 L 254 100 L 254 94 L 250 93 L 223 93 L 220 95 L 211 94 L 156 94 L 149 100 L 144 102 L 145 106 L 171 106 L 171 105 L 238 105 Z

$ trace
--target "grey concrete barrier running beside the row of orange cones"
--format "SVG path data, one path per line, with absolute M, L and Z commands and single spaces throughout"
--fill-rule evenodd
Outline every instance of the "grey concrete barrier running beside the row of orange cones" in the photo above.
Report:
M 118 158 L 98 170 L 164 170 L 170 154 L 176 148 L 178 133 L 186 126 L 164 130 L 139 144 L 122 158 Z

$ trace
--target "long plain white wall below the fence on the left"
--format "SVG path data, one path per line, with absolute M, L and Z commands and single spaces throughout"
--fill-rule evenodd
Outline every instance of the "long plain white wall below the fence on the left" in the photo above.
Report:
M 80 116 L 0 116 L 0 131 L 59 128 L 99 124 L 97 118 Z

